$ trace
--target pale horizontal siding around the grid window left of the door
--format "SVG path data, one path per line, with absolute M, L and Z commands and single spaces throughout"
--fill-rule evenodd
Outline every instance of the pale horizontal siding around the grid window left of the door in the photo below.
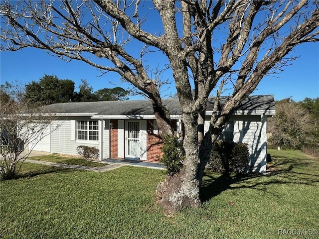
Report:
M 92 120 L 92 119 L 74 119 L 74 120 Z M 71 130 L 71 120 L 55 120 L 53 124 L 60 126 L 51 133 L 51 153 L 62 153 L 70 155 L 78 155 L 76 150 L 79 145 L 94 146 L 99 148 L 99 142 L 77 142 L 71 140 L 71 133 L 76 132 L 76 129 Z M 76 125 L 75 125 L 76 127 Z M 107 129 L 105 129 L 107 128 Z M 100 132 L 100 129 L 99 129 Z M 99 139 L 101 136 L 99 134 Z M 103 123 L 103 158 L 109 157 L 109 129 Z

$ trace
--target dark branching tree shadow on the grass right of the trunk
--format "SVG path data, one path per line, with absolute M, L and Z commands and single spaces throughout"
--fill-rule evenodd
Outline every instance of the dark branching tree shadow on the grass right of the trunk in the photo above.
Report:
M 223 191 L 240 188 L 251 188 L 268 192 L 267 186 L 273 184 L 303 184 L 316 185 L 319 183 L 319 172 L 306 169 L 311 167 L 309 162 L 298 158 L 281 157 L 268 165 L 267 173 L 247 173 L 241 175 L 223 175 L 206 171 L 200 188 L 200 199 L 207 202 Z

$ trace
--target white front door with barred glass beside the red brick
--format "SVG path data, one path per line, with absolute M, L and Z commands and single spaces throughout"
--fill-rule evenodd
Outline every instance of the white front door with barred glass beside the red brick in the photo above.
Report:
M 126 157 L 141 157 L 140 121 L 126 121 Z

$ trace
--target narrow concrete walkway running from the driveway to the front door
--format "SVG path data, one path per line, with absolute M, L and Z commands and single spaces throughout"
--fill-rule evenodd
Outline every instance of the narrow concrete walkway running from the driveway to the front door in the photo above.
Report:
M 49 155 L 48 152 L 41 152 L 41 151 L 32 151 L 29 157 L 33 156 L 41 156 L 41 155 Z M 28 163 L 38 163 L 44 164 L 47 166 L 53 167 L 62 167 L 62 168 L 70 168 L 70 169 L 79 169 L 79 170 L 86 170 L 86 171 L 93 171 L 93 172 L 107 172 L 116 168 L 120 168 L 122 166 L 130 165 L 134 167 L 146 167 L 152 169 L 160 169 L 164 170 L 165 166 L 160 163 L 149 163 L 143 161 L 131 161 L 131 160 L 118 160 L 118 159 L 105 159 L 103 161 L 94 160 L 95 162 L 100 163 L 107 163 L 107 165 L 102 167 L 89 167 L 89 166 L 80 166 L 80 165 L 71 165 L 71 164 L 64 164 L 64 163 L 53 163 L 53 162 L 46 162 L 46 161 L 39 161 L 39 160 L 32 160 L 26 159 L 25 162 Z

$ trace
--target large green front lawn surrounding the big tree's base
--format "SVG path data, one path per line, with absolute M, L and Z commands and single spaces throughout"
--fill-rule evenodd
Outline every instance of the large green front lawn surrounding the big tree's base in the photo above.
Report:
M 1 182 L 0 238 L 318 238 L 306 234 L 319 230 L 319 160 L 299 151 L 270 153 L 269 174 L 207 172 L 203 207 L 169 216 L 154 203 L 164 171 L 25 163 L 20 178 Z

